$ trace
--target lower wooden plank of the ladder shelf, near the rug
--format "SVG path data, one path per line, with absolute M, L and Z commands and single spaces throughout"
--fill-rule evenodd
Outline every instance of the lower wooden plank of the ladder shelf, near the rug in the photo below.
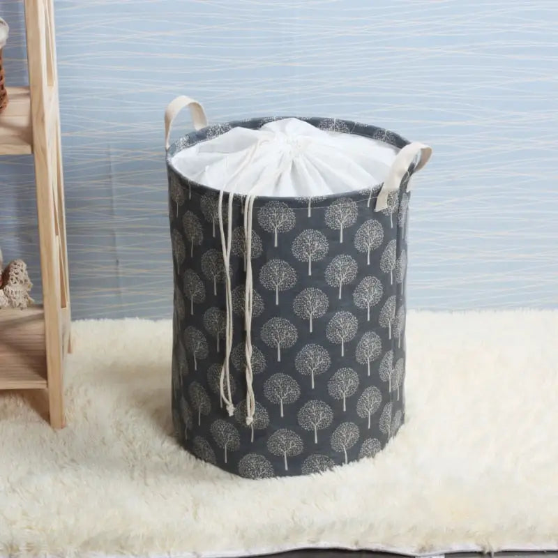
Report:
M 0 389 L 46 388 L 43 308 L 2 308 L 0 331 Z

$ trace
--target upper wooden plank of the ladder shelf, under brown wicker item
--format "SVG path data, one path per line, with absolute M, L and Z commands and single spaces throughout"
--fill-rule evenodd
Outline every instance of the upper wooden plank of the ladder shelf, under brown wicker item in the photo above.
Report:
M 0 155 L 33 151 L 29 87 L 8 87 L 8 107 L 0 114 Z

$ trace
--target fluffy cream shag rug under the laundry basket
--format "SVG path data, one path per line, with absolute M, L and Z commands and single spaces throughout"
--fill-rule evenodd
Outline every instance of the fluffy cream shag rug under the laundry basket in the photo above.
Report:
M 68 426 L 0 395 L 0 555 L 558 548 L 558 312 L 411 312 L 407 423 L 376 458 L 249 481 L 171 435 L 171 323 L 74 324 Z

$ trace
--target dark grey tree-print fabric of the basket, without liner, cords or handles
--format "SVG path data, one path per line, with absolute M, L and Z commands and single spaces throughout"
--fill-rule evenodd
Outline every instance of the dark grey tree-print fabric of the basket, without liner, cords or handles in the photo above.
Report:
M 407 143 L 373 126 L 306 120 L 398 147 Z M 177 150 L 230 126 L 257 128 L 265 121 L 190 134 L 169 149 L 167 163 Z M 225 350 L 218 193 L 169 165 L 172 409 L 176 435 L 188 451 L 248 478 L 290 476 L 375 455 L 395 435 L 405 417 L 406 185 L 412 170 L 382 212 L 374 211 L 380 185 L 370 184 L 342 196 L 256 200 L 252 429 L 245 423 L 242 199 L 234 199 L 232 223 L 236 412 L 229 417 L 218 387 Z

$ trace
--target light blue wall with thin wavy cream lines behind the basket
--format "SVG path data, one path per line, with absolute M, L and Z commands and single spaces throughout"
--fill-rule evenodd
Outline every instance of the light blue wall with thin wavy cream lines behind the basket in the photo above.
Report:
M 409 305 L 558 306 L 558 2 L 56 0 L 73 315 L 169 317 L 163 110 L 338 116 L 432 144 Z M 22 2 L 8 83 L 25 80 Z M 177 128 L 189 128 L 186 115 Z M 38 294 L 31 158 L 0 160 L 0 246 Z

